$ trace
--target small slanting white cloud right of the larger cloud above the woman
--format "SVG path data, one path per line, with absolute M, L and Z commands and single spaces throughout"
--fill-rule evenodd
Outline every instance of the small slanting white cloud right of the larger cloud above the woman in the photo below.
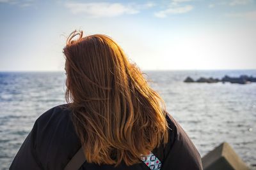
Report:
M 158 11 L 154 13 L 156 17 L 159 18 L 164 18 L 167 17 L 168 14 L 178 14 L 178 13 L 187 13 L 188 11 L 193 10 L 193 6 L 191 5 L 186 5 L 186 6 L 181 6 L 181 7 L 173 7 L 171 6 L 170 8 L 163 10 L 163 11 Z

